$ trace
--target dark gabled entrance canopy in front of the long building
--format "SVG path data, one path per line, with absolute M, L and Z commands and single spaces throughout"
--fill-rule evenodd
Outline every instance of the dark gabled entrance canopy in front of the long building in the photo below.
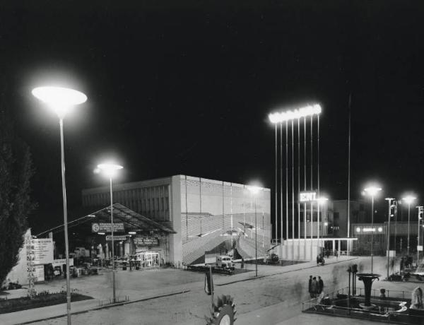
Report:
M 126 206 L 122 206 L 120 203 L 114 203 L 112 211 L 114 223 L 124 223 L 125 232 L 136 232 L 140 235 L 159 236 L 176 233 L 169 225 L 153 221 L 144 215 L 132 211 L 130 208 L 126 208 Z M 87 227 L 87 225 L 92 223 L 110 223 L 110 206 L 76 220 L 69 221 L 68 228 L 78 227 L 91 230 L 91 228 Z M 37 237 L 47 235 L 49 232 L 58 233 L 63 231 L 64 225 L 59 225 L 55 228 L 40 232 L 40 234 L 37 234 Z

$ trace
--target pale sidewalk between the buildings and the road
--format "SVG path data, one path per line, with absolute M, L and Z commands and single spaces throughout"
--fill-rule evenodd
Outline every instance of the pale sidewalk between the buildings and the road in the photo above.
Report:
M 341 263 L 343 261 L 357 259 L 356 257 L 343 256 L 338 259 L 327 259 L 326 264 Z M 317 264 L 315 261 L 310 261 L 302 264 L 293 264 L 290 266 L 270 266 L 270 265 L 258 265 L 258 278 L 264 278 L 265 276 L 274 276 L 282 273 L 295 272 L 304 270 L 307 268 L 315 268 Z M 320 267 L 320 266 L 319 266 Z M 245 264 L 245 268 L 254 270 L 254 264 Z M 150 272 L 150 271 L 142 271 Z M 204 274 L 203 273 L 192 273 L 190 271 L 182 270 L 156 270 L 152 271 L 155 273 L 127 273 L 127 271 L 117 272 L 117 297 L 129 297 L 129 302 L 118 303 L 117 305 L 126 305 L 131 302 L 140 300 L 149 300 L 161 297 L 164 295 L 178 295 L 179 293 L 189 292 L 192 288 L 203 288 L 204 286 Z M 162 274 L 160 274 L 162 273 Z M 176 282 L 182 280 L 192 280 L 187 283 L 179 283 L 177 285 L 171 285 L 172 279 Z M 100 276 L 98 276 L 100 277 Z M 153 278 L 155 277 L 155 278 Z M 106 307 L 112 307 L 107 305 L 110 301 L 111 289 L 110 289 L 110 274 L 105 273 L 102 278 L 81 278 L 74 279 L 71 281 L 71 288 L 81 287 L 81 293 L 90 295 L 95 299 L 83 300 L 80 302 L 71 303 L 72 314 L 87 312 L 95 309 L 102 309 Z M 130 278 L 128 280 L 128 278 Z M 151 284 L 153 280 L 157 283 Z M 250 271 L 246 273 L 239 273 L 233 276 L 215 276 L 214 284 L 218 286 L 228 285 L 230 283 L 241 282 L 244 280 L 254 280 L 255 272 Z M 144 282 L 143 282 L 144 280 Z M 137 283 L 134 283 L 137 281 Z M 58 281 L 57 283 L 46 283 L 36 285 L 37 290 L 52 290 L 52 288 L 61 288 L 64 281 Z M 148 283 L 147 283 L 148 282 Z M 140 285 L 140 283 L 142 285 Z M 152 288 L 155 284 L 155 288 Z M 150 285 L 151 288 L 147 288 Z M 138 286 L 138 288 L 137 288 Z M 143 288 L 141 288 L 143 287 Z M 16 290 L 15 290 L 16 291 Z M 20 294 L 26 294 L 25 290 L 20 290 Z M 16 292 L 16 295 L 19 294 Z M 10 296 L 8 296 L 10 298 Z M 270 306 L 272 307 L 272 306 Z M 252 312 L 254 313 L 254 312 Z M 49 307 L 41 307 L 37 309 L 28 309 L 21 312 L 13 312 L 9 314 L 0 314 L 0 324 L 22 324 L 33 321 L 41 321 L 43 319 L 55 318 L 66 316 L 66 304 L 54 305 Z M 294 316 L 294 315 L 293 315 Z M 244 324 L 244 323 L 240 323 Z

